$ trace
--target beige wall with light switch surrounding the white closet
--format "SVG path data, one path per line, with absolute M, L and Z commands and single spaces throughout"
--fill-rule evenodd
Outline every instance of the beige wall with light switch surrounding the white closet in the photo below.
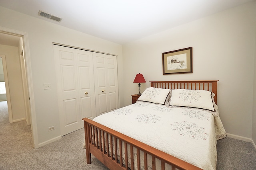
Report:
M 58 22 L 40 20 L 2 7 L 0 7 L 0 26 L 23 31 L 28 35 L 29 51 L 25 52 L 30 55 L 34 95 L 30 96 L 34 104 L 31 118 L 35 119 L 32 122 L 33 134 L 36 134 L 34 141 L 39 147 L 60 137 L 53 42 L 117 55 L 119 99 L 120 106 L 124 106 L 121 45 L 62 27 Z M 51 83 L 52 89 L 44 90 L 44 83 Z M 55 130 L 49 132 L 48 127 L 51 126 L 55 126 Z

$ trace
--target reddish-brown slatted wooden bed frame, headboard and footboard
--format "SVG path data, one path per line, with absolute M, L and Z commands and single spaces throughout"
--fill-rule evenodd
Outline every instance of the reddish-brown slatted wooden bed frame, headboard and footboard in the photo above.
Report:
M 217 82 L 218 80 L 207 81 L 152 81 L 151 87 L 165 88 L 165 89 L 196 89 L 196 90 L 208 90 L 214 92 L 214 101 L 217 103 Z M 180 160 L 172 155 L 162 152 L 158 149 L 150 147 L 140 141 L 132 139 L 122 133 L 114 131 L 104 125 L 96 123 L 88 118 L 84 120 L 84 132 L 86 141 L 86 160 L 88 164 L 91 164 L 91 154 L 93 154 L 100 162 L 102 162 L 110 170 L 134 170 L 133 152 L 135 148 L 137 150 L 137 167 L 148 168 L 148 155 L 152 156 L 152 168 L 156 169 L 156 159 L 161 161 L 161 170 L 165 170 L 165 164 L 172 166 L 172 170 L 201 170 L 188 162 Z M 109 137 L 110 136 L 110 137 Z M 94 142 L 100 141 L 100 142 Z M 102 141 L 106 141 L 102 142 Z M 112 145 L 110 145 L 110 143 Z M 109 148 L 110 145 L 110 148 Z M 127 146 L 130 145 L 130 150 Z M 124 146 L 124 150 L 122 149 Z M 106 148 L 106 149 L 103 149 Z M 117 149 L 119 148 L 119 150 Z M 131 168 L 122 164 L 122 161 L 115 159 L 114 155 L 124 152 L 124 158 L 120 154 L 120 160 L 125 159 L 125 165 L 128 165 L 128 153 L 131 155 Z M 140 151 L 144 153 L 144 164 L 140 164 Z M 159 166 L 159 165 L 158 165 Z

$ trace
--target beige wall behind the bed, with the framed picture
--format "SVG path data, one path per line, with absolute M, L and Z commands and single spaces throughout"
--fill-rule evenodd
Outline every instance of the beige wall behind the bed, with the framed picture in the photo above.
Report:
M 156 80 L 219 80 L 218 106 L 227 133 L 251 138 L 256 2 L 192 21 L 123 46 L 125 104 Z M 162 75 L 162 53 L 193 47 L 193 73 Z M 255 105 L 254 105 L 255 107 Z M 254 113 L 255 114 L 255 113 Z M 254 141 L 256 142 L 256 141 Z

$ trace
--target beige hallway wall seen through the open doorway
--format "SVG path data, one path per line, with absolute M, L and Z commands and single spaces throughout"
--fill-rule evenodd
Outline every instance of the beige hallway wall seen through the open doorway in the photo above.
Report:
M 5 55 L 13 121 L 25 119 L 22 79 L 18 47 L 0 45 L 0 55 Z

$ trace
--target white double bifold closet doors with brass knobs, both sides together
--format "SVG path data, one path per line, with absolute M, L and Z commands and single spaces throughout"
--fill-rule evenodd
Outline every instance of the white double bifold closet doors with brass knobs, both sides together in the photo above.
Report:
M 61 135 L 118 109 L 116 56 L 53 45 Z

